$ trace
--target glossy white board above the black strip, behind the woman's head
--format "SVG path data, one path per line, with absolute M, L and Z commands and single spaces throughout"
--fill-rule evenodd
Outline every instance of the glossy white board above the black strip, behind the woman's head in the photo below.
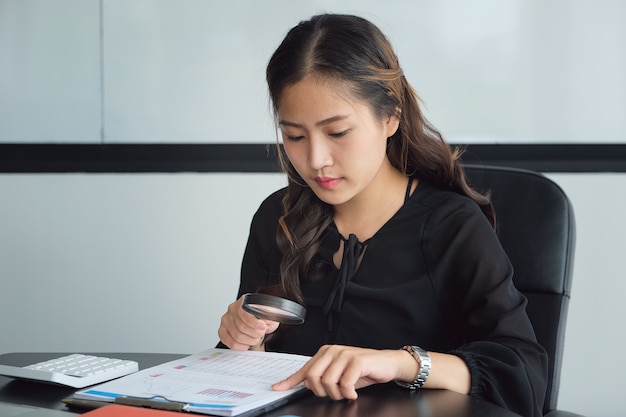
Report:
M 345 12 L 388 35 L 450 142 L 626 143 L 624 1 L 337 3 L 0 0 L 0 142 L 272 143 L 269 56 Z

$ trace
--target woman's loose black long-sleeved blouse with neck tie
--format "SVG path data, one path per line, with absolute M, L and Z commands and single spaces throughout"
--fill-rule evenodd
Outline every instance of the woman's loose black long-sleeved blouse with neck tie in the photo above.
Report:
M 270 195 L 254 215 L 239 296 L 279 282 L 283 195 Z M 338 270 L 332 255 L 341 239 L 331 225 L 316 258 L 328 274 L 301 282 L 306 321 L 281 325 L 267 350 L 313 355 L 328 343 L 410 344 L 452 353 L 470 369 L 471 395 L 523 416 L 542 415 L 547 355 L 513 285 L 511 263 L 477 204 L 420 180 L 372 238 L 344 239 Z

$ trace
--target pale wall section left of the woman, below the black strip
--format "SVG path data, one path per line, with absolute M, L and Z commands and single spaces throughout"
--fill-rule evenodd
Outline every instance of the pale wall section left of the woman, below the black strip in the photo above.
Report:
M 0 175 L 0 352 L 217 343 L 280 174 Z

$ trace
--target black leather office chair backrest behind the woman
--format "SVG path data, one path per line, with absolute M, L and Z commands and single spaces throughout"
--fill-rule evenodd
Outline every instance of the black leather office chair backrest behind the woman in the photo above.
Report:
M 536 172 L 465 165 L 465 173 L 474 188 L 491 192 L 513 281 L 528 298 L 528 316 L 548 352 L 547 413 L 556 409 L 559 392 L 575 245 L 572 205 L 557 184 Z

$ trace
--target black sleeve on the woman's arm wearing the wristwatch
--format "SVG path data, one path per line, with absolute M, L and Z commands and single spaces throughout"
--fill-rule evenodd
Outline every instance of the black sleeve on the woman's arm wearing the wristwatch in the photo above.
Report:
M 448 211 L 449 210 L 449 211 Z M 461 305 L 464 343 L 454 351 L 468 365 L 470 395 L 523 416 L 541 416 L 547 354 L 514 287 L 513 267 L 478 206 L 436 212 L 425 234 L 431 279 L 443 306 Z M 451 309 L 451 308 L 450 308 Z

